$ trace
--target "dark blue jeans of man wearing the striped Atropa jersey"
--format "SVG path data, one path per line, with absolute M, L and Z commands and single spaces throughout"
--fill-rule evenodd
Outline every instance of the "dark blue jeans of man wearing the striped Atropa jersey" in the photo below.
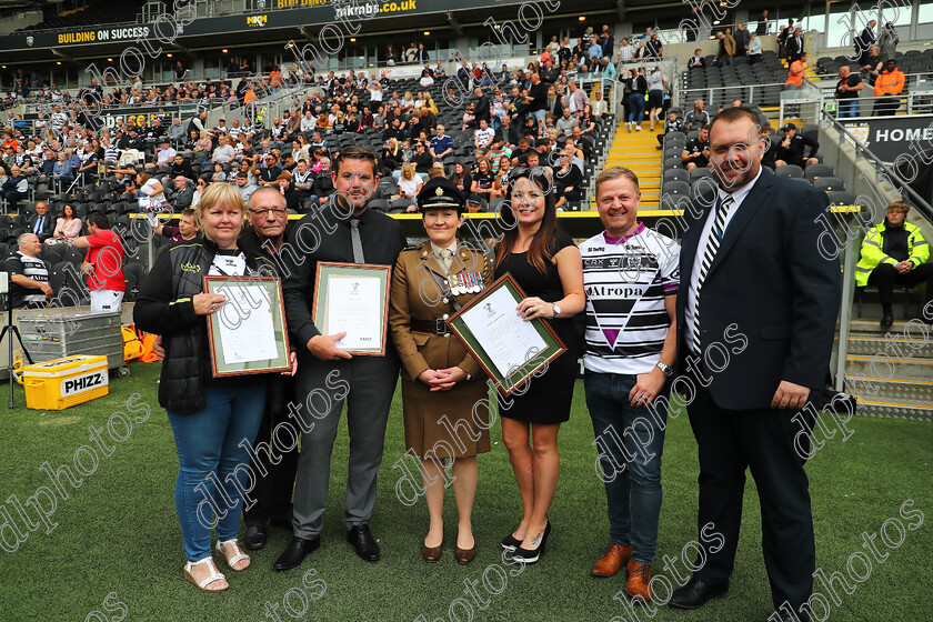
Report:
M 583 378 L 586 408 L 596 435 L 598 473 L 605 484 L 609 535 L 612 542 L 632 545 L 632 559 L 651 564 L 658 550 L 661 514 L 661 453 L 668 424 L 668 390 L 651 409 L 629 403 L 636 378 L 595 373 Z M 653 414 L 652 414 L 653 413 Z

